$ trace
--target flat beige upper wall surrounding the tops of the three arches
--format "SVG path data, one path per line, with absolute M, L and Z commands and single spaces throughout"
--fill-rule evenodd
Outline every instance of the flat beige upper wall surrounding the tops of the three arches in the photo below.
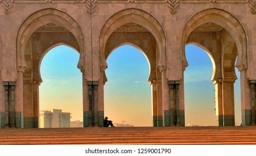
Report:
M 27 1 L 29 2 L 29 1 Z M 155 1 L 153 1 L 155 2 Z M 161 1 L 162 2 L 162 1 Z M 239 1 L 238 3 L 197 3 L 197 1 L 192 1 L 193 3 L 181 3 L 179 2 L 179 7 L 176 8 L 175 14 L 170 12 L 170 8 L 168 3 L 103 3 L 102 1 L 96 2 L 96 7 L 94 8 L 94 12 L 90 14 L 88 11 L 88 7 L 85 4 L 81 3 L 21 3 L 21 2 L 13 2 L 12 7 L 10 8 L 10 13 L 6 14 L 4 11 L 4 7 L 1 7 L 1 35 L 5 40 L 3 41 L 3 79 L 4 81 L 15 81 L 16 74 L 16 66 L 15 66 L 15 58 L 16 58 L 16 36 L 17 32 L 21 26 L 21 23 L 26 20 L 32 13 L 40 11 L 45 8 L 54 8 L 58 9 L 64 13 L 67 13 L 71 16 L 81 27 L 84 37 L 85 43 L 85 60 L 87 62 L 86 71 L 87 71 L 87 79 L 90 78 L 91 69 L 99 70 L 99 37 L 101 29 L 103 28 L 104 23 L 114 14 L 127 9 L 127 8 L 136 8 L 140 9 L 143 12 L 147 12 L 153 18 L 156 19 L 157 22 L 160 23 L 164 35 L 166 37 L 166 56 L 167 56 L 167 65 L 175 67 L 167 68 L 167 77 L 170 80 L 178 80 L 182 77 L 181 74 L 181 33 L 184 31 L 183 28 L 185 24 L 188 22 L 189 18 L 193 17 L 194 14 L 197 14 L 204 9 L 208 8 L 217 8 L 223 9 L 225 12 L 230 13 L 234 16 L 243 26 L 246 32 L 246 38 L 248 39 L 248 55 L 253 55 L 253 49 L 255 48 L 252 44 L 255 38 L 255 16 L 251 12 L 251 8 L 249 7 L 249 3 L 244 3 L 244 1 Z M 223 1 L 224 2 L 224 1 Z M 240 3 L 243 2 L 243 3 Z M 14 20 L 15 19 L 15 20 Z M 8 26 L 8 27 L 7 27 Z M 91 30 L 92 28 L 92 30 Z M 175 40 L 173 40 L 175 38 Z M 91 46 L 92 44 L 92 46 Z M 7 52 L 10 51 L 10 52 Z M 88 60 L 93 56 L 94 61 Z M 4 61 L 4 58 L 12 58 L 13 61 Z M 250 57 L 250 61 L 248 62 L 248 66 L 252 66 L 254 68 L 254 64 L 252 63 L 253 56 Z M 93 62 L 93 65 L 92 65 Z M 93 66 L 93 68 L 92 68 Z M 172 73 L 176 73 L 175 75 Z M 250 77 L 255 77 L 255 71 L 248 70 L 248 74 Z M 99 79 L 99 72 L 95 72 L 95 79 Z

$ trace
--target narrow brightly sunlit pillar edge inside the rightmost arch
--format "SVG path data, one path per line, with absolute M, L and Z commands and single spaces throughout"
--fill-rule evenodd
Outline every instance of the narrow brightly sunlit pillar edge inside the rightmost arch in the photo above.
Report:
M 223 113 L 222 113 L 222 83 L 214 81 L 215 84 L 215 114 L 216 125 L 223 126 Z

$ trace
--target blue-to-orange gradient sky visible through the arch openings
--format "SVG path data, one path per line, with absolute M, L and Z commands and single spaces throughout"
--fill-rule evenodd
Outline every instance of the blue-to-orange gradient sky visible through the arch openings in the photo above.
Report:
M 215 85 L 211 81 L 212 62 L 194 45 L 186 46 L 189 66 L 184 72 L 185 124 L 216 125 Z M 40 66 L 43 82 L 39 87 L 40 110 L 62 109 L 72 119 L 82 121 L 82 74 L 77 69 L 79 53 L 67 46 L 50 50 Z M 114 123 L 152 126 L 149 65 L 137 48 L 124 45 L 107 59 L 108 82 L 104 86 L 105 111 Z M 240 75 L 236 70 L 235 123 L 241 123 Z

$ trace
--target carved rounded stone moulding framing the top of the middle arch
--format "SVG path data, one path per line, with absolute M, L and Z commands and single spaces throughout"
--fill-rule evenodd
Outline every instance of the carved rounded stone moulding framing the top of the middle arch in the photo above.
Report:
M 166 37 L 160 23 L 156 20 L 156 18 L 151 16 L 151 14 L 144 11 L 139 9 L 125 9 L 110 17 L 101 29 L 99 41 L 101 70 L 105 70 L 107 67 L 104 56 L 106 41 L 108 41 L 109 36 L 114 32 L 114 30 L 116 30 L 119 26 L 126 24 L 127 21 L 141 25 L 152 33 L 156 39 L 160 53 L 157 67 L 166 69 Z

